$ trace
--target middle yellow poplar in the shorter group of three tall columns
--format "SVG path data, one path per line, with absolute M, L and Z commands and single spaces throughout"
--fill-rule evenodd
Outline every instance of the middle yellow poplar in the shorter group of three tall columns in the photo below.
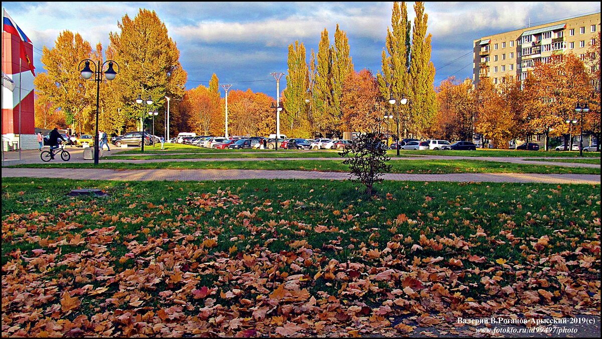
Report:
M 314 127 L 322 136 L 334 132 L 335 118 L 332 103 L 332 54 L 326 28 L 321 33 L 318 54 L 312 52 L 317 60 L 314 68 Z

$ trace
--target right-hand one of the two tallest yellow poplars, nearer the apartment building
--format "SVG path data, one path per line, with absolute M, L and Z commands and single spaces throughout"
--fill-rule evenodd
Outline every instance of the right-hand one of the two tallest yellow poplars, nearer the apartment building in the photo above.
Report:
M 437 112 L 435 89 L 435 66 L 430 61 L 432 34 L 426 35 L 429 15 L 424 13 L 424 2 L 414 3 L 414 28 L 412 29 L 412 50 L 410 53 L 410 115 L 408 127 L 415 136 L 421 136 L 428 128 Z

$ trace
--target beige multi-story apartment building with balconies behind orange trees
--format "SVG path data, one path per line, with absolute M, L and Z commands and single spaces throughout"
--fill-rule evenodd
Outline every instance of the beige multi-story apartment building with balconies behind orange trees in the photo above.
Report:
M 494 84 L 524 80 L 535 62 L 556 53 L 573 52 L 582 60 L 600 31 L 600 13 L 521 28 L 474 40 L 473 83 L 480 77 Z

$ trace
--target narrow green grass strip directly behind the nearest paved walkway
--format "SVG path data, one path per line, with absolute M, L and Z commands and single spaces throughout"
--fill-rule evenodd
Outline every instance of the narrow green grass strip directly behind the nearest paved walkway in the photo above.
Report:
M 391 173 L 446 174 L 446 173 L 575 173 L 600 174 L 600 168 L 577 168 L 551 165 L 530 165 L 482 160 L 390 160 Z M 93 163 L 34 163 L 17 165 L 20 168 L 107 168 L 124 170 L 302 170 L 348 172 L 343 160 L 256 160 L 256 161 L 173 161 L 173 162 L 100 162 Z M 15 167 L 15 166 L 12 166 Z

